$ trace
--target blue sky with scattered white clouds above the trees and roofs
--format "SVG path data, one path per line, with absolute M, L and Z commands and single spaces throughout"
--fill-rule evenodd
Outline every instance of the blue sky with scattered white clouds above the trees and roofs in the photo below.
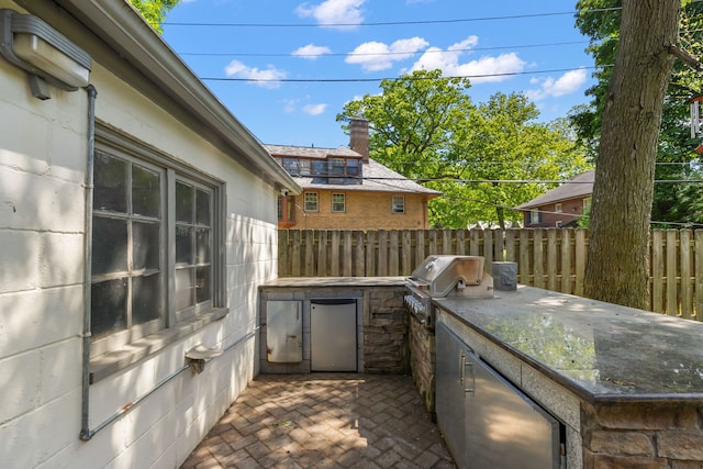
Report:
M 337 147 L 348 144 L 335 121 L 347 101 L 417 68 L 472 77 L 477 104 L 523 92 L 540 120 L 565 116 L 593 85 L 574 4 L 181 0 L 163 37 L 261 143 Z

